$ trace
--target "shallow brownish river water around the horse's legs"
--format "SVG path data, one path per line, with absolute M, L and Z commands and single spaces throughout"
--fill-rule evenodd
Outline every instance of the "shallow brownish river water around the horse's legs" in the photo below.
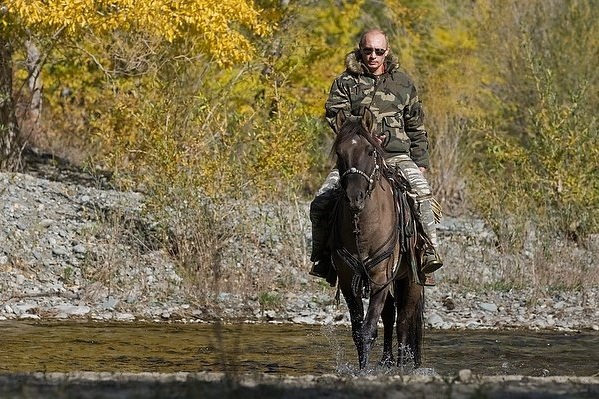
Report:
M 479 375 L 592 376 L 599 373 L 599 333 L 427 331 L 423 361 L 441 375 L 468 368 Z M 352 372 L 356 363 L 345 326 L 0 322 L 0 372 L 318 375 Z

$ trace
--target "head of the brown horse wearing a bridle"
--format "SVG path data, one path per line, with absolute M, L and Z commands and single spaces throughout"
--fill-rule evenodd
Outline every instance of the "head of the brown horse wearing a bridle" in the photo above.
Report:
M 372 111 L 363 108 L 360 116 L 337 114 L 337 137 L 332 151 L 337 155 L 341 187 L 352 212 L 364 209 L 372 193 L 382 165 L 381 147 L 373 136 L 376 119 Z

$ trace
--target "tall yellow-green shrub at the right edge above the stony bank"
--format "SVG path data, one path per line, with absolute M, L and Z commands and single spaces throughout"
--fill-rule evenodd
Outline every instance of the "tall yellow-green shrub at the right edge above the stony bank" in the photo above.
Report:
M 599 231 L 598 82 L 588 56 L 597 54 L 597 11 L 584 0 L 510 10 L 511 28 L 489 29 L 512 46 L 491 86 L 496 112 L 481 119 L 472 141 L 471 198 L 506 247 L 521 248 L 531 223 L 579 239 Z M 586 46 L 571 45 L 578 41 Z

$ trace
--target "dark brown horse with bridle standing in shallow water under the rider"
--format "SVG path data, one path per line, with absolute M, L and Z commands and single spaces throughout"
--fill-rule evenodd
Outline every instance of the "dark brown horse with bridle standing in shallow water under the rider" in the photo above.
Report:
M 360 369 L 368 365 L 381 316 L 381 362 L 393 364 L 396 315 L 397 363 L 404 366 L 412 360 L 418 367 L 424 289 L 415 260 L 416 222 L 413 208 L 398 188 L 401 179 L 385 165 L 384 152 L 372 134 L 374 124 L 368 109 L 360 117 L 337 115 L 331 153 L 337 157 L 342 194 L 332 222 L 332 259 L 349 308 Z M 369 297 L 366 315 L 363 297 Z

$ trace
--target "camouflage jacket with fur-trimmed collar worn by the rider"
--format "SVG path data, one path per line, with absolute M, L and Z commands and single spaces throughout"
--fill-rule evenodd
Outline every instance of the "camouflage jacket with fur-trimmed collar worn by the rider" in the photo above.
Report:
M 383 147 L 388 156 L 408 154 L 416 165 L 428 168 L 424 111 L 414 83 L 399 70 L 397 59 L 389 55 L 385 72 L 374 76 L 356 50 L 347 55 L 345 67 L 334 80 L 325 104 L 329 125 L 334 125 L 339 111 L 358 115 L 361 107 L 369 107 L 378 122 L 376 133 L 386 135 Z

